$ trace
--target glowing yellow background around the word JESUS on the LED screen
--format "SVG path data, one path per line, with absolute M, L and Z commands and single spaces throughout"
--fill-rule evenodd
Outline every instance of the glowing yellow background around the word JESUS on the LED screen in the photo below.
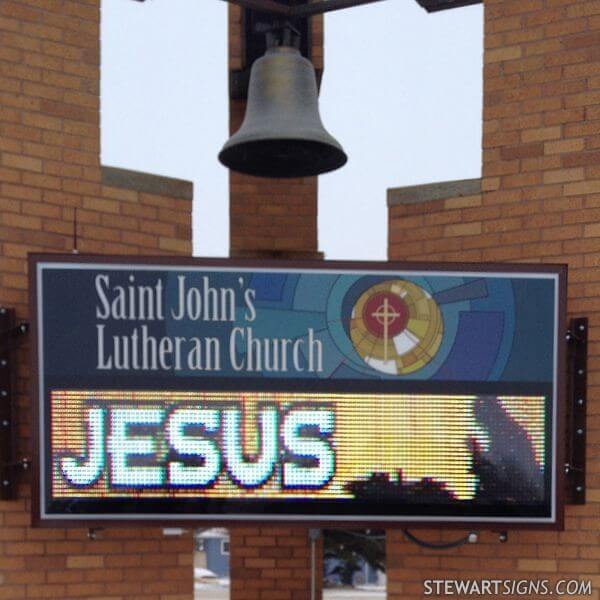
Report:
M 481 398 L 481 397 L 480 397 Z M 489 397 L 488 397 L 489 398 Z M 545 399 L 539 396 L 491 397 L 508 417 L 521 427 L 531 443 L 540 469 L 545 460 Z M 426 394 L 369 395 L 314 394 L 267 392 L 140 392 L 140 391 L 53 391 L 51 394 L 51 454 L 53 498 L 313 498 L 347 499 L 353 495 L 347 485 L 367 481 L 375 473 L 386 474 L 397 482 L 419 482 L 423 478 L 441 484 L 453 498 L 470 500 L 477 491 L 477 477 L 472 472 L 471 444 L 475 440 L 483 451 L 489 448 L 488 432 L 475 417 L 478 396 L 436 396 Z M 110 444 L 104 444 L 106 468 L 90 485 L 73 485 L 64 476 L 61 461 L 84 460 L 89 443 L 87 411 L 102 409 L 107 415 L 105 437 L 111 435 L 111 413 L 126 407 L 135 411 L 163 411 L 165 419 L 175 409 L 210 409 L 219 415 L 219 430 L 214 434 L 216 446 L 224 436 L 224 413 L 235 407 L 239 421 L 240 445 L 247 460 L 256 460 L 261 451 L 261 422 L 257 415 L 261 407 L 271 407 L 278 432 L 273 435 L 278 444 L 277 464 L 272 475 L 254 487 L 240 486 L 221 463 L 219 474 L 207 487 L 169 485 L 139 485 L 127 488 L 111 485 L 109 465 Z M 327 416 L 330 429 L 321 431 L 321 448 L 328 446 L 334 457 L 331 473 L 324 483 L 313 488 L 282 484 L 286 415 L 305 409 L 315 416 Z M 116 414 L 116 413 L 115 413 Z M 296 414 L 296 413 L 294 413 Z M 217 418 L 217 417 L 215 417 Z M 323 426 L 324 427 L 324 426 Z M 314 428 L 313 428 L 314 429 Z M 133 439 L 150 444 L 154 450 L 153 464 L 167 465 L 175 460 L 169 448 L 167 434 L 161 426 L 154 433 L 144 430 L 131 433 Z M 292 430 L 289 430 L 292 431 Z M 286 435 L 292 435 L 294 432 Z M 193 438 L 192 434 L 189 434 Z M 195 434 L 197 435 L 197 434 Z M 310 435 L 310 433 L 309 433 Z M 273 439 L 275 439 L 275 437 Z M 287 438 L 286 438 L 287 439 Z M 148 456 L 146 456 L 148 459 Z M 313 460 L 314 463 L 314 460 Z

